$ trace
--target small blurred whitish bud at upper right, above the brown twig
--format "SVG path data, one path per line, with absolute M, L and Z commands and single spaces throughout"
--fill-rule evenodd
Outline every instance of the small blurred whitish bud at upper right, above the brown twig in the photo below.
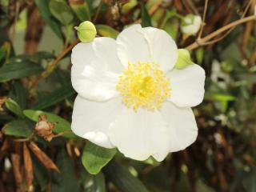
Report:
M 181 30 L 183 34 L 194 35 L 198 33 L 202 25 L 202 18 L 198 15 L 187 14 L 182 20 Z

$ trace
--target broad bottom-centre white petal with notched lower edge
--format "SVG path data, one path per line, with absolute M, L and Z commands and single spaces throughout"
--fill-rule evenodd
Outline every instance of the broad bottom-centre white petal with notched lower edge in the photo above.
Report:
M 109 137 L 122 154 L 139 161 L 150 155 L 162 161 L 170 148 L 170 129 L 158 111 L 126 108 L 110 126 Z

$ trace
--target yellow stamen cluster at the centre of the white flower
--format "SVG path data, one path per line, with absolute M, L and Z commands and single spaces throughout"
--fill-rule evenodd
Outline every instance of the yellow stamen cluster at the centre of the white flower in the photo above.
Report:
M 170 97 L 170 79 L 155 62 L 129 62 L 119 77 L 117 90 L 122 102 L 137 111 L 138 107 L 154 111 Z

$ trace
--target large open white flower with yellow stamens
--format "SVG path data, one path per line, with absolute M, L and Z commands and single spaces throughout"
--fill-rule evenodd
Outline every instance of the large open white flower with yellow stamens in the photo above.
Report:
M 74 133 L 137 160 L 162 161 L 190 146 L 198 134 L 190 107 L 202 102 L 205 72 L 174 69 L 177 58 L 165 31 L 140 25 L 117 40 L 79 43 L 71 55 Z

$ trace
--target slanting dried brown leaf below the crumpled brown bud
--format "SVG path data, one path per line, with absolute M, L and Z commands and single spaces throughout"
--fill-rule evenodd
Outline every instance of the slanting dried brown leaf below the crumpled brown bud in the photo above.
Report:
M 45 154 L 40 148 L 35 144 L 34 142 L 30 142 L 29 144 L 30 150 L 33 151 L 33 153 L 37 156 L 40 162 L 44 166 L 46 166 L 47 169 L 50 170 L 56 170 L 57 172 L 60 172 L 58 167 L 54 164 L 54 162 L 48 157 L 47 154 Z

